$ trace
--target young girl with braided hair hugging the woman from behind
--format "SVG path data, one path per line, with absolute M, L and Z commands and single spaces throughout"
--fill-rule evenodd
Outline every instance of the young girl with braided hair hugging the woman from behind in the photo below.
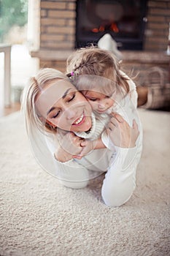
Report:
M 114 148 L 116 137 L 112 129 L 115 119 L 108 114 L 120 113 L 130 126 L 134 126 L 133 119 L 140 124 L 137 115 L 137 94 L 134 82 L 120 70 L 120 64 L 109 51 L 98 48 L 85 48 L 77 50 L 67 60 L 67 71 L 74 85 L 88 99 L 96 115 L 97 127 L 109 129 L 102 134 L 102 142 L 110 149 Z M 102 121 L 102 122 L 101 122 Z M 104 127 L 103 127 L 104 128 Z M 139 127 L 139 141 L 142 143 L 142 127 Z M 98 131 L 96 131 L 97 134 Z M 77 133 L 77 135 L 80 135 Z M 93 136 L 94 138 L 94 136 Z M 139 143 L 138 141 L 138 143 Z M 86 140 L 82 146 L 82 154 L 88 153 L 91 141 Z M 100 144 L 102 147 L 102 143 Z

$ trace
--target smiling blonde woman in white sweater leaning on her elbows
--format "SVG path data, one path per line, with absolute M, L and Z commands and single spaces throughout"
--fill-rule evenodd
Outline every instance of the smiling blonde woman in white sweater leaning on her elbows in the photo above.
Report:
M 96 173 L 107 171 L 101 188 L 104 203 L 107 206 L 125 203 L 135 189 L 136 166 L 140 157 L 140 148 L 136 144 L 137 127 L 130 127 L 117 114 L 113 117 L 117 124 L 113 134 L 119 131 L 123 144 L 120 145 L 118 138 L 117 145 L 120 146 L 114 154 L 108 148 L 96 147 L 82 159 L 74 159 L 73 156 L 82 151 L 83 138 L 74 134 L 90 134 L 96 128 L 96 118 L 87 99 L 55 69 L 40 70 L 35 78 L 31 78 L 23 95 L 28 135 L 40 165 L 60 178 L 63 185 L 74 189 L 87 186 L 88 180 L 97 176 Z M 56 133 L 61 135 L 61 144 L 51 146 Z M 63 149 L 63 143 L 66 143 L 67 150 Z

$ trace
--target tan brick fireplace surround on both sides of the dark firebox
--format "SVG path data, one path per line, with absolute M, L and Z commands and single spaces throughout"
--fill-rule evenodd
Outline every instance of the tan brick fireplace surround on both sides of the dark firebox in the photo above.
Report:
M 39 58 L 40 67 L 54 67 L 65 72 L 66 58 L 75 46 L 76 0 L 35 0 L 39 9 L 39 48 L 31 51 L 31 56 Z M 38 13 L 40 10 L 40 14 Z M 148 0 L 144 31 L 143 50 L 123 50 L 123 66 L 134 68 L 141 74 L 149 67 L 159 66 L 169 69 L 169 56 L 166 54 L 169 36 L 170 1 Z

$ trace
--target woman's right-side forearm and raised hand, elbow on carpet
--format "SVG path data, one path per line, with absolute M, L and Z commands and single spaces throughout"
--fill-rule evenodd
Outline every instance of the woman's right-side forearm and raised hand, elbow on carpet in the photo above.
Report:
M 136 187 L 136 167 L 142 153 L 142 127 L 139 118 L 133 113 L 129 115 L 129 121 L 136 118 L 138 126 L 135 124 L 134 127 L 130 127 L 120 115 L 115 118 L 116 122 L 113 121 L 112 130 L 109 130 L 113 140 L 109 142 L 109 146 L 114 151 L 101 189 L 107 206 L 121 206 L 133 194 Z

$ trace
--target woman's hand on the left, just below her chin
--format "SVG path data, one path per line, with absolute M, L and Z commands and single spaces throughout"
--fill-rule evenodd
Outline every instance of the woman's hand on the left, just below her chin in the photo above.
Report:
M 73 158 L 79 157 L 82 146 L 81 143 L 84 139 L 77 137 L 73 132 L 67 132 L 65 135 L 58 133 L 55 136 L 55 158 L 60 162 L 67 162 Z

